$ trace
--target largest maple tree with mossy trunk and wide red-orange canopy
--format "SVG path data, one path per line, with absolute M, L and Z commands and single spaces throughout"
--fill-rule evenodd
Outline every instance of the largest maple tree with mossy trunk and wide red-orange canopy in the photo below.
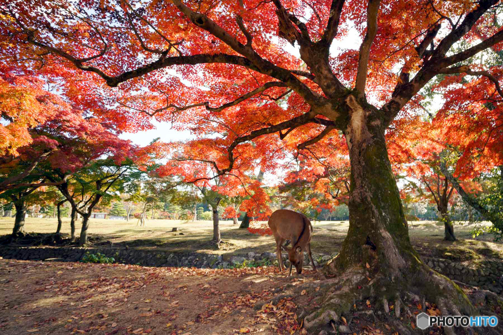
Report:
M 367 270 L 355 265 L 368 257 L 362 246 L 370 240 L 375 294 L 395 297 L 400 287 L 430 295 L 446 314 L 472 310 L 455 284 L 432 275 L 411 247 L 386 138 L 416 113 L 420 90 L 446 75 L 439 83 L 445 90 L 461 86 L 480 95 L 453 91 L 451 101 L 463 104 L 462 111 L 442 114 L 442 122 L 485 130 L 498 146 L 491 129 L 501 128 L 501 114 L 484 103 L 497 106 L 503 96 L 500 68 L 475 59 L 499 51 L 503 41 L 497 0 L 89 0 L 79 6 L 2 0 L 0 11 L 6 58 L 56 76 L 78 73 L 80 81 L 66 78 L 74 89 L 96 92 L 75 95 L 80 103 L 116 106 L 96 109 L 103 122 L 146 129 L 155 118 L 191 130 L 197 138 L 183 144 L 190 156 L 165 168 L 186 182 L 244 178 L 258 160 L 274 171 L 289 154 L 343 142 L 351 168 L 350 228 L 327 271 L 366 282 Z M 354 32 L 361 44 L 345 48 Z M 288 44 L 296 51 L 285 52 Z M 466 75 L 477 79 L 462 81 Z

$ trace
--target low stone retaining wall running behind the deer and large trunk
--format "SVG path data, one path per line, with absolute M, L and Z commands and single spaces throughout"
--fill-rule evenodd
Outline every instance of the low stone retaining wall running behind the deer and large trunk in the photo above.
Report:
M 231 254 L 208 255 L 201 253 L 172 253 L 156 250 L 114 249 L 114 248 L 52 248 L 52 247 L 3 247 L 0 256 L 6 259 L 19 260 L 57 260 L 66 262 L 79 261 L 86 252 L 91 254 L 102 253 L 107 257 L 115 258 L 116 262 L 124 264 L 138 264 L 156 267 L 197 267 L 197 268 L 228 268 L 232 265 L 247 262 L 258 262 L 268 259 L 276 262 L 276 254 L 265 252 L 236 256 Z M 304 265 L 310 265 L 305 255 Z M 313 254 L 316 266 L 323 266 L 332 255 Z M 283 254 L 286 259 L 286 254 Z M 318 262 L 319 261 L 319 264 Z M 424 261 L 435 271 L 458 280 L 460 282 L 478 286 L 495 293 L 502 293 L 501 275 L 503 275 L 503 261 L 484 260 L 473 264 L 461 264 L 446 259 L 424 258 Z

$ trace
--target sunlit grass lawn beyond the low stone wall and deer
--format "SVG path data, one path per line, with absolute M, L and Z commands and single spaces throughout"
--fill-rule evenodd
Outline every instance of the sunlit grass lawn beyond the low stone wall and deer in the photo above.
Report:
M 461 224 L 463 223 L 463 224 Z M 409 222 L 409 235 L 415 249 L 422 255 L 449 258 L 459 261 L 476 261 L 481 258 L 503 258 L 503 245 L 492 242 L 489 234 L 472 239 L 470 231 L 474 225 L 456 223 L 455 233 L 458 241 L 443 241 L 444 227 L 435 221 Z M 14 218 L 0 217 L 0 235 L 10 234 Z M 487 225 L 487 224 L 485 224 Z M 52 218 L 27 218 L 25 230 L 36 233 L 53 233 L 57 222 Z M 341 249 L 348 232 L 348 221 L 313 222 L 314 235 L 312 250 L 314 253 L 331 254 Z M 172 232 L 172 228 L 181 229 Z M 77 236 L 80 222 L 76 222 Z M 215 249 L 210 243 L 213 224 L 211 221 L 181 221 L 149 219 L 146 227 L 137 227 L 136 220 L 91 219 L 89 233 L 91 237 L 100 236 L 103 243 L 110 241 L 115 246 L 128 245 L 131 248 L 157 249 L 174 252 L 197 251 L 212 254 L 245 254 L 249 251 L 262 253 L 275 251 L 271 236 L 250 234 L 238 229 L 232 221 L 221 221 L 220 230 L 225 242 L 221 249 Z M 62 233 L 69 234 L 69 219 L 63 220 Z

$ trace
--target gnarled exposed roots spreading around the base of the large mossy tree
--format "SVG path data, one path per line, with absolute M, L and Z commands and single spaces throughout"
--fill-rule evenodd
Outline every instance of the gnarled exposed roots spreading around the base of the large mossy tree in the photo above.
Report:
M 415 327 L 416 314 L 427 309 L 440 310 L 442 315 L 494 315 L 489 305 L 499 304 L 503 308 L 503 299 L 496 294 L 468 290 L 467 295 L 449 278 L 422 263 L 415 268 L 415 273 L 405 274 L 395 282 L 391 282 L 385 273 L 374 270 L 356 265 L 337 277 L 287 285 L 281 296 L 292 296 L 298 302 L 299 322 L 303 320 L 308 332 L 316 335 L 322 330 L 334 333 L 337 325 L 349 329 L 351 320 L 358 315 L 371 324 L 385 323 L 400 334 L 414 334 L 422 333 Z M 301 294 L 304 290 L 306 292 Z M 309 297 L 309 303 L 306 297 Z M 342 316 L 344 322 L 349 320 L 348 325 L 342 323 Z M 503 322 L 497 328 L 443 327 L 448 335 L 503 333 L 501 329 Z M 437 330 L 437 333 L 441 332 Z

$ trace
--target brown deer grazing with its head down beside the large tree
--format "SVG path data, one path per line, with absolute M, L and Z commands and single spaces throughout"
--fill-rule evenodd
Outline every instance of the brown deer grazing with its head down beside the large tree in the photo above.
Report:
M 311 256 L 310 244 L 313 227 L 311 226 L 311 221 L 304 214 L 288 209 L 278 209 L 271 214 L 268 225 L 273 231 L 274 239 L 276 240 L 276 256 L 278 257 L 281 273 L 283 273 L 283 269 L 285 268 L 283 257 L 281 257 L 281 248 L 288 253 L 288 259 L 290 260 L 289 276 L 292 275 L 292 265 L 295 265 L 298 274 L 302 273 L 304 250 L 307 251 L 307 255 L 316 271 L 316 266 Z M 283 246 L 286 240 L 292 242 L 291 248 Z

